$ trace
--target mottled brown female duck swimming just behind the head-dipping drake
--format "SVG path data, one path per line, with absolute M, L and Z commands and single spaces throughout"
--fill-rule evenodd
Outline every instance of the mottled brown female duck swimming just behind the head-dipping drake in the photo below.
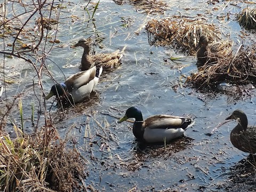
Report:
M 90 55 L 91 39 L 80 39 L 77 44 L 71 47 L 81 46 L 84 48 L 84 53 L 81 60 L 81 69 L 88 70 L 93 66 L 102 67 L 103 71 L 111 71 L 119 67 L 123 54 L 119 50 L 113 53 L 100 53 Z

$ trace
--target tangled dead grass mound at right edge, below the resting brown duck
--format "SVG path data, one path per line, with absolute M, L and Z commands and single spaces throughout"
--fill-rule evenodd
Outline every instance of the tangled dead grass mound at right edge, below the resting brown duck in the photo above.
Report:
M 226 82 L 237 85 L 256 83 L 256 44 L 245 49 L 242 45 L 230 58 L 219 59 L 212 65 L 204 65 L 199 71 L 187 77 L 195 87 L 216 88 L 217 84 Z

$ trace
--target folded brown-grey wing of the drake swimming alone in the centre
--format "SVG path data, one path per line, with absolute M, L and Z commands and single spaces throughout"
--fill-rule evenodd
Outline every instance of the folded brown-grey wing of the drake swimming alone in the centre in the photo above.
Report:
M 187 129 L 195 122 L 188 117 L 172 115 L 154 115 L 145 119 L 143 126 L 147 129 Z

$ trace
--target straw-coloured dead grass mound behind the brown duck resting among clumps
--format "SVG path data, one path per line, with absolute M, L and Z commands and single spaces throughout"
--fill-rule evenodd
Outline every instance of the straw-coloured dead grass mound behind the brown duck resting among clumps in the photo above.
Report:
M 205 34 L 209 41 L 219 41 L 220 39 L 219 29 L 214 24 L 207 24 L 202 20 L 152 19 L 148 22 L 146 30 L 154 35 L 154 41 L 151 44 L 172 45 L 190 54 L 195 53 L 201 35 Z

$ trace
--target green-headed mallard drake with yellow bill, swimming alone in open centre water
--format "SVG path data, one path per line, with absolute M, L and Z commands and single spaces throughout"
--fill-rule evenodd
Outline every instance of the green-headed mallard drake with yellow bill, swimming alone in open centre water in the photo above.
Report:
M 195 123 L 191 118 L 171 115 L 153 115 L 143 121 L 141 111 L 136 107 L 127 109 L 118 123 L 128 118 L 135 118 L 132 127 L 135 138 L 148 143 L 164 142 L 165 139 L 169 142 L 183 135 L 184 131 Z

